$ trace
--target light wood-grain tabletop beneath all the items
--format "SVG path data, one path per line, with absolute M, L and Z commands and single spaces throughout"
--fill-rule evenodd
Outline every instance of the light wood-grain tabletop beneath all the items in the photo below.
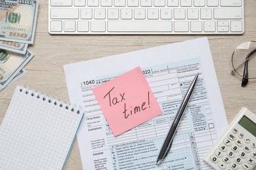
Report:
M 245 33 L 243 35 L 207 35 L 228 123 L 241 107 L 256 113 L 256 80 L 241 87 L 241 78 L 230 75 L 231 55 L 241 42 L 256 41 L 256 1 L 245 0 Z M 0 92 L 0 122 L 17 85 L 23 84 L 59 99 L 69 100 L 63 65 L 114 54 L 196 39 L 204 35 L 50 35 L 48 1 L 39 0 L 35 41 L 30 50 L 34 58 L 26 65 L 28 72 Z M 256 65 L 255 65 L 256 71 Z M 65 169 L 83 169 L 77 140 Z

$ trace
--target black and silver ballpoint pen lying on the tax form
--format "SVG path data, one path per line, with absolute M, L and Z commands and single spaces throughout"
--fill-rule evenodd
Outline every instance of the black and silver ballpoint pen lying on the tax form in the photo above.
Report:
M 171 148 L 171 143 L 173 143 L 173 138 L 177 131 L 177 127 L 179 126 L 179 122 L 181 122 L 181 118 L 184 113 L 184 110 L 186 109 L 186 106 L 188 105 L 188 101 L 192 95 L 194 87 L 196 86 L 196 80 L 198 80 L 198 74 L 194 77 L 194 80 L 192 81 L 190 87 L 188 88 L 188 91 L 186 92 L 186 95 L 184 96 L 181 102 L 181 105 L 176 114 L 176 117 L 173 120 L 173 125 L 171 126 L 171 129 L 169 130 L 169 133 L 165 138 L 165 142 L 163 143 L 163 146 L 161 148 L 160 154 L 158 156 L 158 160 L 156 161 L 157 164 L 160 164 L 164 160 L 164 158 L 167 156 Z

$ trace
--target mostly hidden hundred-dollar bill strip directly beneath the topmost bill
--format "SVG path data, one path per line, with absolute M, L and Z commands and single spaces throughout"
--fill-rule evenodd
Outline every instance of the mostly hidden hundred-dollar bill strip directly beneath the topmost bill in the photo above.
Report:
M 21 43 L 21 42 L 0 40 L 0 49 L 9 50 L 9 51 L 17 52 L 20 54 L 25 54 L 28 49 L 28 44 Z

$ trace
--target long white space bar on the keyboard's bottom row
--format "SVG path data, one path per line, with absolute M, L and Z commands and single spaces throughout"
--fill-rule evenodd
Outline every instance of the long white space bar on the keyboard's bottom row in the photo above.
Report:
M 171 21 L 108 21 L 109 32 L 171 32 Z

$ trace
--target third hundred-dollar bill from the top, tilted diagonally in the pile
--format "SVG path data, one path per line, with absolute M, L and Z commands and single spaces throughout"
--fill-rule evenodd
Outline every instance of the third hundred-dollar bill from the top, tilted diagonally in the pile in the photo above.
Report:
M 30 50 L 27 50 L 26 54 L 0 50 L 0 90 L 11 82 L 33 56 Z

